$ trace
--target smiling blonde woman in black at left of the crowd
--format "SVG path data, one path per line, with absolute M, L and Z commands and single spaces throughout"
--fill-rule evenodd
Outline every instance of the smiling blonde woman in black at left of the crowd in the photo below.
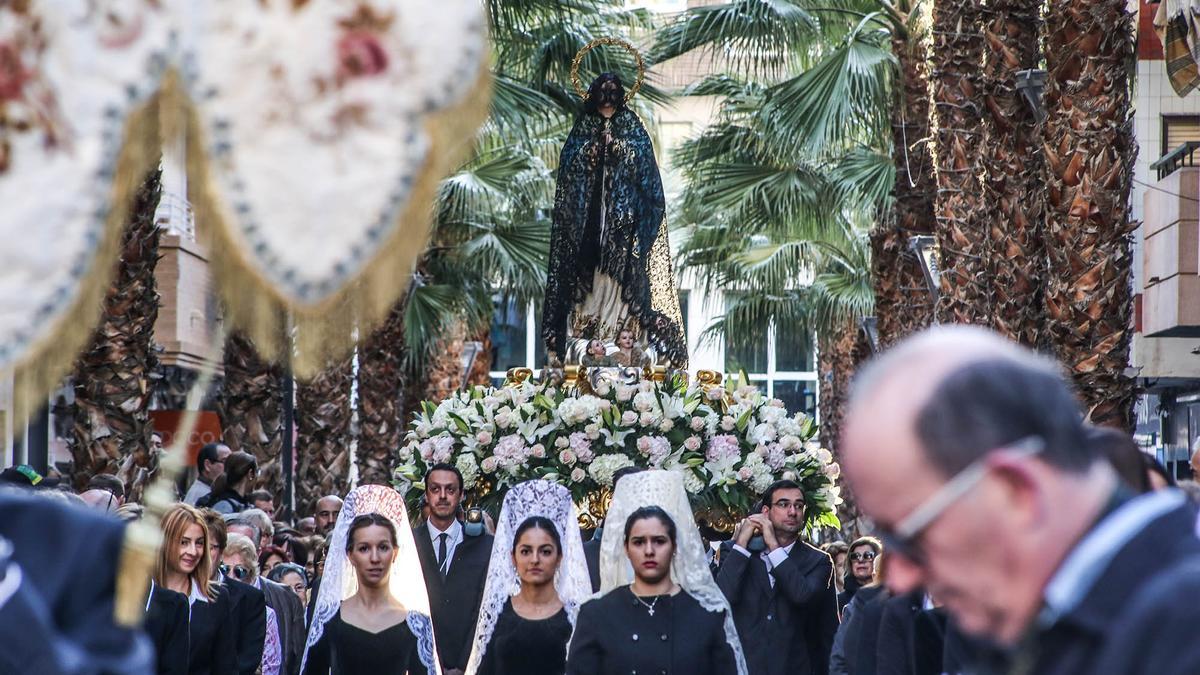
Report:
M 187 597 L 191 620 L 191 675 L 224 675 L 236 669 L 228 591 L 212 580 L 209 530 L 194 507 L 175 504 L 162 519 L 162 549 L 154 584 Z

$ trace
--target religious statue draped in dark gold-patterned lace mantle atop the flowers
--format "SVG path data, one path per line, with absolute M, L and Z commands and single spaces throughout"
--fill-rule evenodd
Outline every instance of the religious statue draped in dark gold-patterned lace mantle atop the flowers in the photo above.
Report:
M 662 177 L 650 137 L 622 101 L 596 112 L 596 78 L 563 145 L 554 192 L 542 338 L 558 357 L 575 339 L 612 342 L 632 330 L 659 363 L 688 365 L 665 221 Z M 570 330 L 569 330 L 570 329 Z

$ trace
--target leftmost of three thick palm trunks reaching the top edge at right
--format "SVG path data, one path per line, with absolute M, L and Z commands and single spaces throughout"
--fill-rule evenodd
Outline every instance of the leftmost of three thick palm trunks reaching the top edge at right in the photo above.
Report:
M 934 114 L 937 138 L 937 243 L 942 322 L 989 325 L 992 316 L 990 217 L 979 185 L 983 61 L 978 0 L 934 4 Z

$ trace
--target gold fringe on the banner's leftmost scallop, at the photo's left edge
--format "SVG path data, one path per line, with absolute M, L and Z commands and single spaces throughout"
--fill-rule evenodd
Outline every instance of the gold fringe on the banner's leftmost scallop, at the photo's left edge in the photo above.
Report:
M 134 197 L 162 156 L 158 129 L 157 96 L 136 108 L 125 120 L 124 143 L 109 193 L 110 209 L 91 268 L 79 280 L 71 306 L 12 369 L 14 428 L 23 425 L 30 414 L 46 405 L 47 396 L 72 371 L 79 352 L 91 340 L 108 286 L 116 274 L 121 234 L 130 220 Z

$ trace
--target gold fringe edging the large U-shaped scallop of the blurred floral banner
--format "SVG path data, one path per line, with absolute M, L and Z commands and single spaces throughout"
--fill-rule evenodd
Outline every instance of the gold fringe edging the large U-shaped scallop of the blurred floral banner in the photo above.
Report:
M 188 193 L 197 229 L 210 237 L 210 264 L 224 301 L 227 327 L 245 331 L 263 357 L 274 362 L 293 350 L 289 336 L 294 327 L 292 369 L 302 380 L 311 380 L 328 364 L 344 358 L 354 348 L 355 329 L 358 335 L 370 335 L 408 288 L 416 261 L 428 244 L 438 185 L 467 157 L 487 117 L 491 88 L 491 64 L 485 61 L 462 101 L 427 118 L 428 154 L 395 231 L 349 283 L 317 305 L 301 305 L 278 293 L 242 250 L 234 221 L 215 191 L 196 108 L 178 79 L 169 77 L 164 110 L 180 117 L 164 117 L 162 124 L 164 133 L 178 125 L 187 131 Z

